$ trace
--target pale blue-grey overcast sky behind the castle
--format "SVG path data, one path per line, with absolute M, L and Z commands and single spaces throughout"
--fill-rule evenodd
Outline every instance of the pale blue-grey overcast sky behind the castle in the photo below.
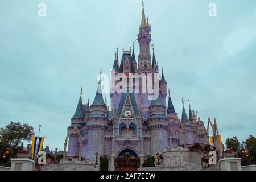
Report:
M 38 16 L 40 2 L 46 17 Z M 217 17 L 208 15 L 212 2 Z M 144 3 L 179 116 L 181 97 L 189 98 L 205 124 L 216 117 L 224 140 L 255 135 L 256 2 Z M 109 74 L 115 48 L 136 39 L 141 11 L 141 0 L 2 0 L 0 127 L 19 121 L 38 132 L 41 124 L 45 144 L 63 149 L 81 85 L 84 102 L 92 101 L 100 69 Z

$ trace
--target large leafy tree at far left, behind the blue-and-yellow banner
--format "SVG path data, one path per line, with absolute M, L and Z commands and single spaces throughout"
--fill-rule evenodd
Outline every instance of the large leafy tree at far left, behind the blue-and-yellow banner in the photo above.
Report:
M 34 128 L 31 125 L 11 121 L 0 129 L 0 142 L 16 148 L 23 140 L 30 142 L 33 135 Z

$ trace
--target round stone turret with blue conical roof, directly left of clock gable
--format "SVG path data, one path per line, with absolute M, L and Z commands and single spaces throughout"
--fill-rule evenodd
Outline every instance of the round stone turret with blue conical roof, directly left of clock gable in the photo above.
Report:
M 98 82 L 98 89 L 92 105 L 90 105 L 90 117 L 87 122 L 88 129 L 88 148 L 86 157 L 95 159 L 95 153 L 99 156 L 104 155 L 104 134 L 105 128 L 108 126 L 108 118 L 106 118 L 107 106 L 104 103 L 101 90 L 101 81 Z

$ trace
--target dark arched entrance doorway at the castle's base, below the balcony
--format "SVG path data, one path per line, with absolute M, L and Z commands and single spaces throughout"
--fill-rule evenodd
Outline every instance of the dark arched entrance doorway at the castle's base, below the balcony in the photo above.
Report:
M 133 150 L 125 149 L 115 158 L 115 171 L 137 171 L 138 167 L 139 158 Z

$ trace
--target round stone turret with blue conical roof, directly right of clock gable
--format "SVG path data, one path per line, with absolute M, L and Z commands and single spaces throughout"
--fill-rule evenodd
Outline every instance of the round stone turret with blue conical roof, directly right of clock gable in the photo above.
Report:
M 149 107 L 150 118 L 148 126 L 151 129 L 151 155 L 162 153 L 163 148 L 168 146 L 168 119 L 165 115 L 164 106 L 160 94 L 156 100 L 152 100 Z

